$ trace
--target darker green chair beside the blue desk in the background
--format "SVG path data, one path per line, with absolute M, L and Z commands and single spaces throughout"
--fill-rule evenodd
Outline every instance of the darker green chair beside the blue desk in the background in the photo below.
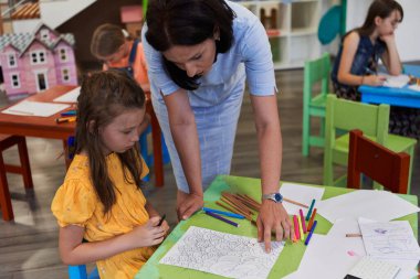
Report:
M 303 130 L 302 154 L 307 157 L 309 148 L 324 147 L 325 104 L 328 94 L 330 60 L 329 54 L 305 62 L 303 85 Z M 321 92 L 313 94 L 313 87 L 321 83 Z M 311 135 L 311 117 L 321 118 L 319 135 Z

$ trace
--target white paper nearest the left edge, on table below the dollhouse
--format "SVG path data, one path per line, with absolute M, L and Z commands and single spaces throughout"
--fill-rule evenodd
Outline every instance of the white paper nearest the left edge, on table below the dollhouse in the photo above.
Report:
M 49 117 L 69 107 L 70 105 L 64 104 L 23 100 L 14 106 L 4 109 L 1 112 L 18 116 Z

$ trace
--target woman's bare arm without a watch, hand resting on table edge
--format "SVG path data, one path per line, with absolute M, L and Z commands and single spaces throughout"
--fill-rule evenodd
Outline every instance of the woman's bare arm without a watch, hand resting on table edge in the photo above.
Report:
M 189 185 L 187 198 L 177 208 L 178 217 L 186 219 L 203 205 L 196 118 L 185 89 L 178 89 L 164 99 L 168 109 L 170 131 Z

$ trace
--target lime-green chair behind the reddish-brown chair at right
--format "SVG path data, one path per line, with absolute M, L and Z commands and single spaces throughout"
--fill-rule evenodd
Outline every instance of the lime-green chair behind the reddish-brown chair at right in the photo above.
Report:
M 324 185 L 346 185 L 346 175 L 334 180 L 334 163 L 347 165 L 349 133 L 336 137 L 336 129 L 359 129 L 364 135 L 395 152 L 410 154 L 408 193 L 410 193 L 412 162 L 417 140 L 388 133 L 389 106 L 368 105 L 327 96 L 324 147 Z M 374 184 L 375 187 L 378 184 Z

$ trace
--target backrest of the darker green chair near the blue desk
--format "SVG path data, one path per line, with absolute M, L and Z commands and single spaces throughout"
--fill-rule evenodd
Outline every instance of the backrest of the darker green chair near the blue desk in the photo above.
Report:
M 315 84 L 321 82 L 321 94 L 328 93 L 330 73 L 329 53 L 324 53 L 317 60 L 306 61 L 304 69 L 304 88 L 303 96 L 311 99 L 312 88 Z

